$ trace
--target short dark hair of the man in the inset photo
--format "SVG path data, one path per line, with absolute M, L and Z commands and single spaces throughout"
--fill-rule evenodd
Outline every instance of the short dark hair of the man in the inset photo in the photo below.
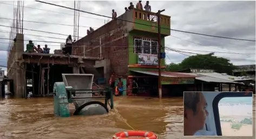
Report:
M 184 110 L 192 109 L 196 114 L 196 105 L 201 101 L 200 92 L 184 92 Z

